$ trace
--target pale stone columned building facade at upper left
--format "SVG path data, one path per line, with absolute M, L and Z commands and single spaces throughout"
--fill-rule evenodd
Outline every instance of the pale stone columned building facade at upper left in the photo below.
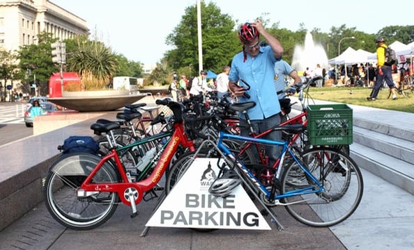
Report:
M 0 48 L 14 51 L 34 44 L 37 35 L 52 33 L 64 40 L 89 35 L 86 21 L 47 0 L 0 1 Z

